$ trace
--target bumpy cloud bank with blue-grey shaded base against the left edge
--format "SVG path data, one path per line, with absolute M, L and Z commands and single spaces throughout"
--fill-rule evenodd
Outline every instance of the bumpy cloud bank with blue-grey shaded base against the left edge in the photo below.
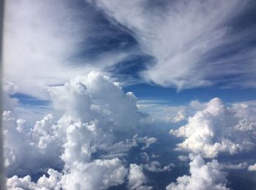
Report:
M 54 134 L 48 132 L 52 127 L 51 116 L 37 122 L 34 130 L 28 132 L 22 119 L 15 119 L 11 111 L 4 111 L 4 156 L 7 174 L 33 174 L 47 167 L 58 167 L 61 145 Z M 26 151 L 24 151 L 26 150 Z

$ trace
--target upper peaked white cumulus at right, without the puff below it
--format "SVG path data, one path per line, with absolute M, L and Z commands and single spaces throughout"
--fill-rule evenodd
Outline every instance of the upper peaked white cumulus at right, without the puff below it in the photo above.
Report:
M 217 157 L 219 152 L 236 154 L 255 146 L 253 135 L 236 132 L 236 124 L 247 117 L 246 114 L 239 115 L 236 107 L 227 108 L 222 100 L 214 98 L 206 103 L 206 108 L 189 117 L 186 125 L 170 130 L 170 133 L 185 138 L 184 142 L 178 143 L 179 150 L 208 158 Z

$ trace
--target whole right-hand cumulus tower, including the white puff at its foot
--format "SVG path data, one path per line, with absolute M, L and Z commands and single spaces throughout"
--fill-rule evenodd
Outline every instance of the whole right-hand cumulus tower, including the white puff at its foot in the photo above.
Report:
M 237 154 L 255 147 L 255 108 L 246 103 L 235 103 L 227 107 L 219 98 L 214 98 L 202 106 L 188 123 L 178 130 L 170 130 L 172 135 L 185 138 L 178 143 L 178 151 L 189 151 L 192 162 L 189 173 L 170 183 L 166 189 L 227 189 L 225 173 L 216 159 L 205 163 L 203 157 L 214 158 L 222 152 Z M 246 162 L 230 165 L 241 169 Z M 235 166 L 235 167 L 233 167 Z M 242 166 L 242 167 L 241 167 Z M 255 165 L 248 167 L 253 171 Z

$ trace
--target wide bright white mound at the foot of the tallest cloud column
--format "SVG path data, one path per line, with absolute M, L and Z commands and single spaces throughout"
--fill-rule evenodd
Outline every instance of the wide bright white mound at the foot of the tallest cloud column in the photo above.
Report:
M 127 169 L 120 159 L 96 159 L 77 162 L 61 178 L 64 189 L 108 189 L 124 183 Z

